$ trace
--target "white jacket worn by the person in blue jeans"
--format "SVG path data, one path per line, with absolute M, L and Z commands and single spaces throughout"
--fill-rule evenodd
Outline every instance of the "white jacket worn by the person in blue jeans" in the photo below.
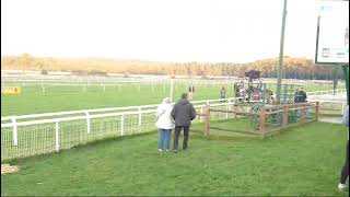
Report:
M 167 103 L 162 103 L 156 109 L 158 120 L 155 123 L 156 127 L 160 129 L 173 129 L 174 123 L 172 119 L 173 105 Z

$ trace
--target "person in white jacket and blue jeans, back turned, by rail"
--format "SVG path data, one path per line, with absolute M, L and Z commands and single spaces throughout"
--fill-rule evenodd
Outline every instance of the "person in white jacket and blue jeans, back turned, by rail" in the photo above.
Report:
M 156 109 L 156 127 L 160 129 L 160 140 L 158 143 L 158 150 L 163 151 L 163 142 L 165 138 L 166 151 L 171 148 L 171 136 L 174 123 L 172 119 L 173 105 L 170 97 L 165 97 L 162 104 Z

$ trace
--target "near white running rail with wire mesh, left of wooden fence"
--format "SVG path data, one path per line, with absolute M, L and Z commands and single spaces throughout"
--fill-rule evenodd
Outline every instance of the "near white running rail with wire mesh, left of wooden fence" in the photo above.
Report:
M 225 99 L 192 103 L 197 113 L 202 114 L 207 104 L 228 109 L 233 101 Z M 1 161 L 58 152 L 98 139 L 156 130 L 156 107 L 143 105 L 1 117 Z M 231 115 L 212 113 L 211 117 L 224 119 Z M 202 117 L 198 116 L 194 121 L 202 121 Z

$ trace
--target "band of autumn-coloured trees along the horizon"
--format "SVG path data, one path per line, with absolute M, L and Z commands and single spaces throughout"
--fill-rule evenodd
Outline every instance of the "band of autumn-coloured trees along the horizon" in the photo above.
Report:
M 77 74 L 180 74 L 180 76 L 231 76 L 244 77 L 247 70 L 260 70 L 264 78 L 276 78 L 278 74 L 278 58 L 261 59 L 253 62 L 158 62 L 142 60 L 113 60 L 113 59 L 62 59 L 33 57 L 28 54 L 22 56 L 1 57 L 3 70 L 45 70 L 45 71 L 70 71 Z M 334 79 L 335 67 L 315 66 L 313 59 L 283 58 L 284 76 L 287 79 Z M 43 73 L 43 72 L 42 72 Z M 339 79 L 342 71 L 339 69 Z

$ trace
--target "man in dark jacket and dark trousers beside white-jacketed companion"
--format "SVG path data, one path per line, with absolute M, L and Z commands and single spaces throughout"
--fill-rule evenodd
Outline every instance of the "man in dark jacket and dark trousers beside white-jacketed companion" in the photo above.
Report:
M 178 137 L 182 129 L 184 129 L 183 149 L 187 150 L 190 121 L 196 117 L 195 107 L 189 103 L 187 93 L 183 93 L 182 100 L 173 107 L 172 117 L 175 120 L 174 151 L 177 152 Z

